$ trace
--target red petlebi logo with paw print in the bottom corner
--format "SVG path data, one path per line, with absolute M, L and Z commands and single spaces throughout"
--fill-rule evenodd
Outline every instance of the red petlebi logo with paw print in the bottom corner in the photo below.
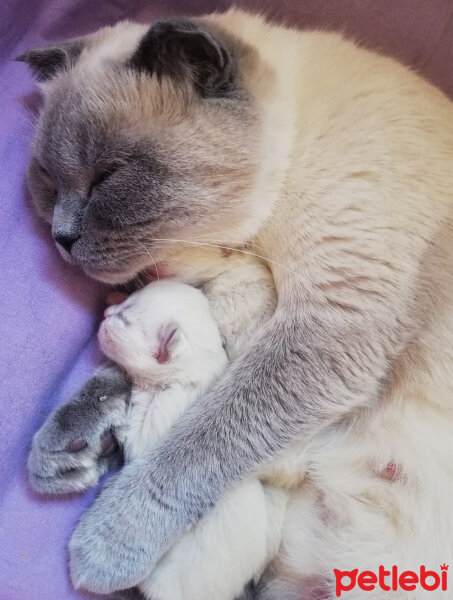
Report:
M 364 592 L 372 592 L 380 588 L 386 592 L 396 592 L 403 590 L 413 592 L 417 589 L 423 589 L 428 592 L 442 591 L 446 592 L 448 588 L 448 565 L 440 565 L 440 571 L 429 571 L 422 565 L 418 572 L 399 571 L 396 565 L 390 570 L 386 570 L 382 565 L 378 572 L 362 571 L 358 569 L 352 571 L 333 570 L 335 575 L 335 592 L 337 598 L 342 596 L 343 592 L 350 592 L 356 586 Z M 345 594 L 347 598 L 347 594 Z M 437 598 L 437 596 L 436 596 Z

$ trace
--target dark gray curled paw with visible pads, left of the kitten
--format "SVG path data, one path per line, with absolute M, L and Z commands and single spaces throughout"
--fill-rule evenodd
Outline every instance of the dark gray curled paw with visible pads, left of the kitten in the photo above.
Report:
M 126 417 L 130 384 L 114 365 L 97 369 L 33 438 L 28 471 L 42 493 L 80 492 L 97 483 L 119 458 L 114 430 Z

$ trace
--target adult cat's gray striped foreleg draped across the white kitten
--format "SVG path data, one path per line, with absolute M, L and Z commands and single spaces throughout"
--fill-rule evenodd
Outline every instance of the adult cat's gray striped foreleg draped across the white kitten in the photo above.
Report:
M 281 314 L 274 317 L 171 436 L 126 465 L 82 516 L 71 539 L 77 587 L 107 593 L 138 583 L 178 533 L 206 514 L 229 485 L 319 422 L 316 406 L 330 404 L 339 389 L 338 381 L 318 368 L 325 358 L 317 354 L 316 343 L 328 335 L 320 333 L 323 338 L 308 329 L 298 334 Z M 306 362 L 306 374 L 298 360 Z M 303 405 L 299 397 L 310 402 Z M 124 505 L 120 512 L 119 504 Z M 110 533 L 112 514 L 115 535 Z

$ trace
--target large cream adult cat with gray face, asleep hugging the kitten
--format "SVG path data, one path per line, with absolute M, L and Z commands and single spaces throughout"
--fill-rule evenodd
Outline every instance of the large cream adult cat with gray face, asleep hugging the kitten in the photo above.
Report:
M 71 259 L 106 281 L 153 259 L 163 268 L 170 246 L 156 238 L 255 244 L 278 307 L 150 460 L 126 466 L 83 516 L 75 584 L 133 585 L 228 486 L 296 440 L 306 484 L 277 569 L 286 583 L 268 597 L 329 586 L 333 568 L 448 560 L 452 103 L 336 34 L 237 11 L 155 27 L 120 24 L 54 56 L 35 204 Z M 45 73 L 44 55 L 26 58 Z M 401 476 L 382 477 L 392 461 Z

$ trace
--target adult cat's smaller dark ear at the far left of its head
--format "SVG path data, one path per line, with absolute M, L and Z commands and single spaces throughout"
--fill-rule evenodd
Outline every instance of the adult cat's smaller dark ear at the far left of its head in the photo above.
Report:
M 83 47 L 82 39 L 70 40 L 55 46 L 33 48 L 16 60 L 26 62 L 38 81 L 46 81 L 75 65 Z

